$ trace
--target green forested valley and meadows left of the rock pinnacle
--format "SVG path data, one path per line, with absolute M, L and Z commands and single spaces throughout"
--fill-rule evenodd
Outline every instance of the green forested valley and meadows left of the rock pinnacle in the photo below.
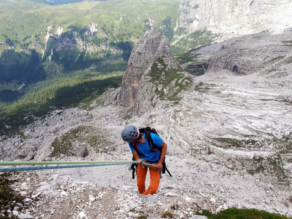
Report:
M 151 25 L 172 40 L 179 5 L 60 3 L 0 1 L 1 131 L 25 124 L 27 113 L 41 116 L 117 87 L 133 45 Z

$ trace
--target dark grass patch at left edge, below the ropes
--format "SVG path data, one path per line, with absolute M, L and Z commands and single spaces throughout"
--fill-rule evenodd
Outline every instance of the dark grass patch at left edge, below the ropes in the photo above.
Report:
M 11 183 L 13 183 L 13 181 L 9 180 L 10 175 L 10 173 L 0 175 L 0 206 L 7 206 L 12 201 L 23 204 L 23 197 L 10 187 Z

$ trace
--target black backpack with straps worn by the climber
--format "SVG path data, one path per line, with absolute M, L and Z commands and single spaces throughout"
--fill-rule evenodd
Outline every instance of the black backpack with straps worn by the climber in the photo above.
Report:
M 153 140 L 152 140 L 152 137 L 151 137 L 151 134 L 150 133 L 154 133 L 154 134 L 157 134 L 157 131 L 155 130 L 155 128 L 150 128 L 150 127 L 146 127 L 146 128 L 139 128 L 139 133 L 144 133 L 145 134 L 145 137 L 147 139 L 147 142 L 148 144 L 150 145 L 151 147 L 151 151 L 153 152 L 157 152 L 158 150 L 160 151 L 161 153 L 161 148 L 158 147 L 157 145 L 154 144 Z M 157 134 L 158 135 L 158 134 Z M 133 144 L 131 143 L 132 147 L 137 151 L 138 155 L 143 155 L 144 154 L 141 154 L 139 151 L 138 151 L 138 148 L 136 146 L 136 144 Z M 133 156 L 132 160 L 134 161 L 135 158 Z M 138 164 L 132 164 L 131 167 L 129 167 L 129 170 L 133 170 L 132 171 L 132 176 L 133 176 L 133 179 L 135 178 L 135 171 L 137 171 L 137 166 Z M 166 168 L 166 164 L 165 164 L 165 157 L 164 157 L 164 160 L 162 162 L 162 169 L 161 169 L 162 173 L 165 173 L 165 171 L 167 171 L 167 173 L 171 175 L 171 173 L 168 171 L 168 169 Z

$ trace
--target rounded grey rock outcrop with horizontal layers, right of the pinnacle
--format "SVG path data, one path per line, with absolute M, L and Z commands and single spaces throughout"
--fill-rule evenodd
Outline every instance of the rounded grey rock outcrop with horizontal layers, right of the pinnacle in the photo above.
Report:
M 292 69 L 292 32 L 234 39 L 209 58 L 208 69 L 226 69 L 237 75 L 258 72 L 284 77 Z

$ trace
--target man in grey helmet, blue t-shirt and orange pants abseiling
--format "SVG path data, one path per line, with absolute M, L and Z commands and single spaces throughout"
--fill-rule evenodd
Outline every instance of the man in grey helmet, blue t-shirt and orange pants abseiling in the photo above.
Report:
M 147 167 L 142 164 L 138 164 L 137 166 L 137 186 L 139 193 L 144 195 L 154 194 L 157 191 L 161 169 L 163 166 L 165 168 L 164 157 L 167 145 L 159 135 L 155 133 L 157 133 L 156 130 L 150 127 L 141 128 L 139 130 L 133 125 L 127 126 L 121 133 L 122 139 L 129 143 L 133 154 L 133 160 L 143 159 L 147 160 L 150 164 L 157 165 L 157 167 L 149 167 L 150 185 L 147 190 L 145 190 Z

